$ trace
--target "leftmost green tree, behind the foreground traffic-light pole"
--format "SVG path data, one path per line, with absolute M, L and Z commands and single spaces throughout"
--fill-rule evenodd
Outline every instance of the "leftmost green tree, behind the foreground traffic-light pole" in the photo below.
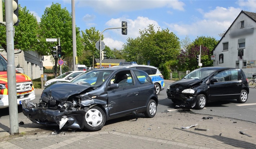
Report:
M 26 7 L 22 8 L 19 5 L 19 25 L 14 26 L 14 49 L 20 49 L 23 51 L 35 51 L 37 50 L 37 31 L 38 24 L 36 17 L 29 13 Z M 3 16 L 5 16 L 5 7 L 3 5 Z M 4 17 L 5 21 L 5 17 Z M 0 44 L 6 50 L 6 27 L 5 25 L 0 25 Z

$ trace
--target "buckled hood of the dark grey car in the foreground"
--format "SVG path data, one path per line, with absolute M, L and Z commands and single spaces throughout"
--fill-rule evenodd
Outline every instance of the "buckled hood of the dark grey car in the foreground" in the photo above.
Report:
M 44 89 L 41 98 L 44 96 L 53 97 L 54 100 L 63 102 L 66 101 L 70 96 L 81 94 L 88 88 L 91 87 L 76 83 L 56 82 L 48 85 Z

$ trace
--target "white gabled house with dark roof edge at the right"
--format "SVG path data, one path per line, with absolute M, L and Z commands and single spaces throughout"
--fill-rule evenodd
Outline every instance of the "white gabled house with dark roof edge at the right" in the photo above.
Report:
M 241 11 L 213 49 L 213 66 L 256 73 L 256 13 Z

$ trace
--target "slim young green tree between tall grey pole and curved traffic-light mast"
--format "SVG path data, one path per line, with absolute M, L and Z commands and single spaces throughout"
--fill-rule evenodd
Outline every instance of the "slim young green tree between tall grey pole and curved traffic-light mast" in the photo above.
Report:
M 100 40 L 100 34 L 99 31 L 96 31 L 95 27 L 85 29 L 85 32 L 82 31 L 84 50 L 91 52 L 92 66 L 94 66 L 94 59 L 100 58 L 100 51 L 95 47 L 96 42 Z M 103 35 L 101 36 L 101 40 L 103 40 Z

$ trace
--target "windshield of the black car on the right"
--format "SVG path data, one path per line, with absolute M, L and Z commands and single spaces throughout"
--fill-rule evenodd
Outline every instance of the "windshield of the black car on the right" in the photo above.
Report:
M 196 69 L 191 73 L 184 76 L 184 79 L 206 79 L 207 76 L 211 75 L 215 70 Z

